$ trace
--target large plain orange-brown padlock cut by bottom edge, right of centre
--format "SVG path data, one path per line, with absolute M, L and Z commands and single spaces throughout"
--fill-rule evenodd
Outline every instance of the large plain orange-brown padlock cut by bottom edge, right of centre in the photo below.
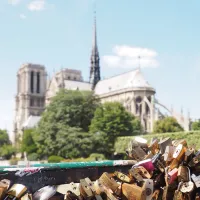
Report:
M 145 190 L 134 184 L 122 184 L 122 199 L 123 200 L 145 200 Z

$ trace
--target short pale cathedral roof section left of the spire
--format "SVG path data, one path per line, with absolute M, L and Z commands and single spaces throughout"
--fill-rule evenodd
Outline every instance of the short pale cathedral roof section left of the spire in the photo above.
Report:
M 67 90 L 91 90 L 91 84 L 81 81 L 64 80 Z

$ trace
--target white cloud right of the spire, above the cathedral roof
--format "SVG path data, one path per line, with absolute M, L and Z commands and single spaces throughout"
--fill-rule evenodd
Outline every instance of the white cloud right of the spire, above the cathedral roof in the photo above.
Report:
M 113 49 L 113 55 L 103 56 L 103 64 L 113 68 L 131 68 L 138 67 L 158 67 L 156 60 L 157 52 L 152 49 L 142 47 L 131 47 L 127 45 L 116 45 Z M 140 56 L 140 59 L 139 59 Z

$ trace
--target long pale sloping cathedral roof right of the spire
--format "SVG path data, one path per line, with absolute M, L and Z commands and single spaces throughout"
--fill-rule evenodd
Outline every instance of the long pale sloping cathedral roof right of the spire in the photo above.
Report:
M 141 70 L 135 69 L 133 71 L 99 81 L 95 87 L 95 93 L 97 95 L 101 95 L 128 88 L 154 90 L 144 78 Z

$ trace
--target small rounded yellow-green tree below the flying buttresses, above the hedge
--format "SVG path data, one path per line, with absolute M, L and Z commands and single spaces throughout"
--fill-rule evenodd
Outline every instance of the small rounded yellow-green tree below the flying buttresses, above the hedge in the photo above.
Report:
M 166 117 L 158 120 L 154 124 L 154 133 L 167 133 L 183 131 L 181 125 L 173 117 Z

